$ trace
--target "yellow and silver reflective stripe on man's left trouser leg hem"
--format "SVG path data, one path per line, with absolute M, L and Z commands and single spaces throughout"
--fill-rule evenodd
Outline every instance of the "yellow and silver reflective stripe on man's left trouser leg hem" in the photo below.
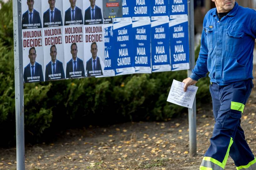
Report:
M 227 148 L 227 153 L 226 153 L 226 155 L 225 155 L 225 157 L 224 157 L 222 163 L 219 162 L 219 161 L 217 161 L 217 160 L 214 159 L 214 158 L 211 158 L 211 157 L 204 157 L 204 158 L 203 158 L 203 161 L 202 161 L 202 164 L 201 164 L 201 166 L 200 166 L 200 170 L 205 170 L 204 168 L 214 168 L 214 167 L 216 167 L 218 170 L 219 170 L 219 169 L 224 169 L 225 166 L 226 166 L 226 163 L 227 163 L 227 158 L 228 158 L 229 150 L 230 150 L 230 147 L 231 147 L 232 143 L 233 143 L 233 139 L 230 138 L 230 142 L 229 142 L 229 145 L 228 145 L 228 148 Z M 217 167 L 217 166 L 214 166 L 214 165 L 211 165 L 212 163 L 218 165 L 218 167 Z M 212 170 L 217 170 L 217 169 L 212 169 Z M 208 170 L 208 169 L 206 169 L 206 170 Z

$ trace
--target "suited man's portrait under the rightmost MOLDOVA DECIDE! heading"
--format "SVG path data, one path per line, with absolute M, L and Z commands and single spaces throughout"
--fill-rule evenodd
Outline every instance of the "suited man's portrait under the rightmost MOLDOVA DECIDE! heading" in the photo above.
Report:
M 91 58 L 86 62 L 86 73 L 87 77 L 101 76 L 102 68 L 100 58 L 97 56 L 98 47 L 96 42 L 91 43 Z

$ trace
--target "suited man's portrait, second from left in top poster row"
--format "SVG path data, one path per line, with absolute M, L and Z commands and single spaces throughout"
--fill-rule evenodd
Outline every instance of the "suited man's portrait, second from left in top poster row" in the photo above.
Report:
M 44 16 L 43 16 L 44 23 L 61 22 L 58 25 L 62 26 L 63 24 L 62 24 L 61 12 L 59 9 L 55 8 L 55 0 L 48 0 L 48 3 L 50 8 L 44 12 Z M 44 27 L 47 27 L 47 25 L 44 25 Z

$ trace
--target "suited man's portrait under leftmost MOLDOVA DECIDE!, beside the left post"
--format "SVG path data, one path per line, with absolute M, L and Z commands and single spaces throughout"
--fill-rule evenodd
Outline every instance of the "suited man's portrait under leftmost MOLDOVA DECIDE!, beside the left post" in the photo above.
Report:
M 42 65 L 35 62 L 35 58 L 36 58 L 35 47 L 31 47 L 29 49 L 30 62 L 24 68 L 24 74 L 23 74 L 24 83 L 44 81 Z

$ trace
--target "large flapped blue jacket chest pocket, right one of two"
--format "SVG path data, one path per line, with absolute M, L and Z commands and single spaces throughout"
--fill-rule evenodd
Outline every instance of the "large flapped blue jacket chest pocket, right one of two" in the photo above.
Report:
M 243 51 L 244 32 L 239 30 L 227 30 L 226 51 L 232 54 L 238 54 Z

